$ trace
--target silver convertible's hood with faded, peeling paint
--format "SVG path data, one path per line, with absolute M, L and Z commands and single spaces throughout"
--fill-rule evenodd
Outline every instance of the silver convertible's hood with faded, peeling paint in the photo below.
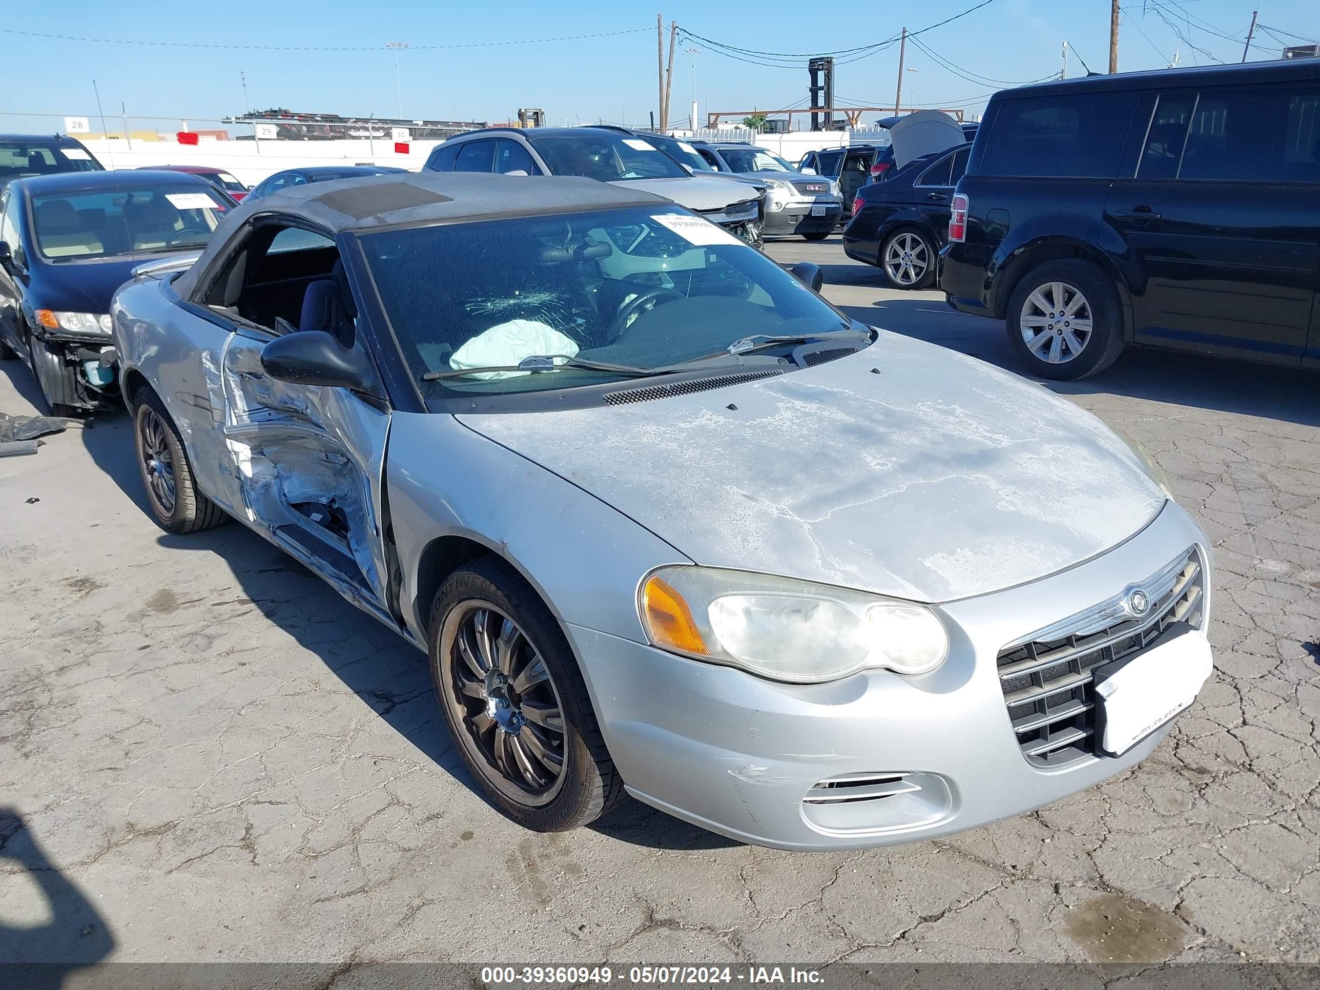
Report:
M 458 418 L 697 564 L 921 602 L 1085 561 L 1166 500 L 1090 413 L 890 333 L 814 368 L 696 395 Z

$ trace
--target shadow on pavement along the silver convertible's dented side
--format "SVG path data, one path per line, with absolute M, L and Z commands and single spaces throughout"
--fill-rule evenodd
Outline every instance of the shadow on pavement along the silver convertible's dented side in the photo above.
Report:
M 98 416 L 95 429 L 83 432 L 83 444 L 98 467 L 152 519 L 137 470 L 129 417 L 123 412 Z M 157 543 L 223 558 L 243 598 L 267 620 L 315 653 L 348 690 L 426 759 L 491 804 L 453 746 L 421 651 L 347 605 L 321 578 L 240 523 L 187 536 L 160 533 Z M 731 840 L 632 800 L 624 801 L 595 828 L 623 842 L 656 849 L 734 845 Z

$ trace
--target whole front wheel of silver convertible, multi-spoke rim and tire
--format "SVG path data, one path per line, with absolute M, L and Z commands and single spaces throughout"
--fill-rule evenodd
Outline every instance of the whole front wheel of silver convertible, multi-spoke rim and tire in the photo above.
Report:
M 507 562 L 484 557 L 445 579 L 428 645 L 454 744 L 504 814 L 560 832 L 622 797 L 577 659 Z

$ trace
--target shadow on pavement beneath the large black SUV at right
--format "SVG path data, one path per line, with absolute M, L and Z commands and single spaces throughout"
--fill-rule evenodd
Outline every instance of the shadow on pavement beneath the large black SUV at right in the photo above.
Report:
M 862 323 L 939 343 L 1015 374 L 1024 374 L 1008 346 L 1001 319 L 954 313 L 942 301 L 921 297 L 888 298 L 870 306 L 840 309 Z M 1051 381 L 1031 375 L 1028 378 L 1060 395 L 1122 395 L 1208 411 L 1265 416 L 1304 426 L 1320 425 L 1320 376 L 1302 368 L 1129 347 L 1111 368 L 1093 379 Z

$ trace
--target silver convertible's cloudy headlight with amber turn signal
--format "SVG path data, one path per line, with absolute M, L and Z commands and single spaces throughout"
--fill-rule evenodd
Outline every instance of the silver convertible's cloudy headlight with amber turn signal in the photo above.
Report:
M 923 605 L 771 574 L 661 568 L 642 585 L 639 606 L 661 649 L 776 681 L 927 673 L 949 655 L 944 626 Z

